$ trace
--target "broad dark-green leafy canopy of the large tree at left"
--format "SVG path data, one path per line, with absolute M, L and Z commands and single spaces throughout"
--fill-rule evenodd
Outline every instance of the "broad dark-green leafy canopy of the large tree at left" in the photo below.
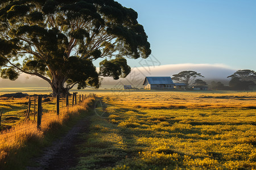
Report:
M 125 77 L 131 70 L 126 58 L 151 53 L 137 18 L 113 0 L 1 1 L 1 77 L 36 75 L 53 94 L 66 94 L 75 84 L 99 87 L 101 75 Z M 99 73 L 93 65 L 98 58 L 106 58 Z

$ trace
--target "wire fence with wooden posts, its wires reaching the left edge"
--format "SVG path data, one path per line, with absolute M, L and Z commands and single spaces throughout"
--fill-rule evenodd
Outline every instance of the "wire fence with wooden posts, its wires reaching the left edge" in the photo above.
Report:
M 49 120 L 61 121 L 61 117 L 67 114 L 68 110 L 76 109 L 77 105 L 81 105 L 86 99 L 95 98 L 96 94 L 81 94 L 73 93 L 67 96 L 44 96 L 42 95 L 28 97 L 28 108 L 24 121 L 16 124 L 11 129 L 2 130 L 0 132 L 0 143 L 18 142 L 23 133 L 30 131 L 41 130 L 43 124 L 49 124 Z M 86 101 L 87 102 L 87 101 Z M 47 108 L 47 109 L 44 109 Z M 47 113 L 47 114 L 46 114 Z M 2 111 L 0 111 L 0 126 Z M 62 118 L 63 120 L 63 118 Z M 2 124 L 3 126 L 3 124 Z M 43 125 L 43 128 L 46 127 Z M 20 138 L 20 139 L 19 139 Z M 14 140 L 14 141 L 13 141 Z

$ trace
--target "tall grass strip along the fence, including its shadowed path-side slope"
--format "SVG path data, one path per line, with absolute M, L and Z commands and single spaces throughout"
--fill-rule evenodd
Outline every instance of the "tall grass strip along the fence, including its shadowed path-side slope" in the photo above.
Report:
M 0 169 L 23 169 L 31 156 L 38 154 L 40 147 L 48 144 L 65 126 L 85 113 L 94 99 L 70 108 L 61 108 L 60 115 L 51 111 L 43 113 L 40 130 L 35 121 L 25 121 L 0 133 Z

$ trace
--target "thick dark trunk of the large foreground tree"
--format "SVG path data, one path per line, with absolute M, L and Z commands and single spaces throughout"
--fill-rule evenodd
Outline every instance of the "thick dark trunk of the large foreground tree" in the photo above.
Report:
M 52 94 L 53 95 L 69 95 L 69 89 L 64 87 L 63 78 L 52 79 Z

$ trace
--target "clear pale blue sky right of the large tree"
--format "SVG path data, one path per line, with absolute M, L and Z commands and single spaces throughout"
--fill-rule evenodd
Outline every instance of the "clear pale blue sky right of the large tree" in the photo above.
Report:
M 222 63 L 256 70 L 255 0 L 116 0 L 138 12 L 162 65 Z M 129 60 L 139 66 L 137 60 Z

